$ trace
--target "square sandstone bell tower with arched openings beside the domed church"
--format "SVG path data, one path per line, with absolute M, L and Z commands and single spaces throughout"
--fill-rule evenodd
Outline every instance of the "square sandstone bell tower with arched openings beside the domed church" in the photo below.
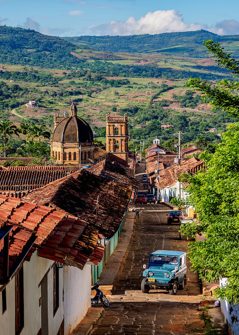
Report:
M 106 120 L 106 151 L 115 156 L 115 161 L 128 166 L 128 117 L 110 116 Z M 118 159 L 117 159 L 118 157 Z M 112 157 L 114 159 L 114 157 Z

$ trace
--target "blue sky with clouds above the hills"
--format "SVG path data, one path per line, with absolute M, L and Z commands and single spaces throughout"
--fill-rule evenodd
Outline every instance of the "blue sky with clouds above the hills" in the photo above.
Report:
M 205 29 L 239 34 L 239 1 L 0 0 L 0 25 L 52 36 L 161 34 Z

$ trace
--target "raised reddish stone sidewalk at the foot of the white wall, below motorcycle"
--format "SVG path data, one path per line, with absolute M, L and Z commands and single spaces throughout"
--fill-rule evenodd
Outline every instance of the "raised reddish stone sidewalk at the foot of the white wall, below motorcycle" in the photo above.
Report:
M 103 307 L 90 307 L 80 323 L 72 330 L 70 335 L 88 335 L 93 325 L 101 317 L 104 312 Z

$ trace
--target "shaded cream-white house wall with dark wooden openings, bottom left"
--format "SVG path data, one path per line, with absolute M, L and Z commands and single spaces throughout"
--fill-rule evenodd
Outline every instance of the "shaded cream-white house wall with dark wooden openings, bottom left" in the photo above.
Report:
M 37 335 L 41 328 L 41 286 L 42 278 L 54 262 L 32 255 L 29 262 L 23 263 L 24 281 L 24 328 L 21 335 Z M 59 309 L 53 318 L 53 269 L 48 274 L 48 315 L 49 335 L 57 334 L 63 320 L 63 269 L 59 269 Z M 0 293 L 0 334 L 15 335 L 15 277 L 6 286 L 7 310 L 2 315 L 2 294 Z

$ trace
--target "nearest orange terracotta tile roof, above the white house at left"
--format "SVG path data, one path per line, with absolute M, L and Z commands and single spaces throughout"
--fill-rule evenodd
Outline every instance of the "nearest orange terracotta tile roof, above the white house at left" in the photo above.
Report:
M 0 195 L 1 228 L 13 225 L 9 236 L 9 268 L 16 264 L 32 237 L 37 237 L 25 260 L 38 249 L 39 256 L 82 269 L 91 259 L 96 264 L 104 247 L 98 244 L 97 229 L 64 211 L 38 206 Z M 3 240 L 0 242 L 0 278 L 3 272 Z M 92 256 L 91 256 L 92 254 Z

